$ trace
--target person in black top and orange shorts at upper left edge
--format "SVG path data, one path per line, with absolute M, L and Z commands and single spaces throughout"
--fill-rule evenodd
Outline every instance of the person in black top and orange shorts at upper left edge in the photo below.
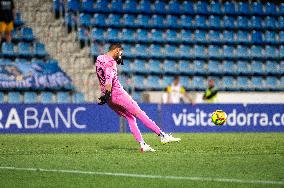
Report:
M 0 0 L 0 42 L 5 33 L 6 42 L 11 42 L 11 31 L 14 29 L 15 6 L 13 0 Z

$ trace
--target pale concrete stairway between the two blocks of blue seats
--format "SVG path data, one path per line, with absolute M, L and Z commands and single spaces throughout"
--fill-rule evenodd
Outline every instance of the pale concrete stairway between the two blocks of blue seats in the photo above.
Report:
M 75 41 L 76 32 L 67 34 L 63 18 L 54 18 L 52 1 L 23 0 L 17 1 L 16 7 L 39 41 L 46 45 L 47 52 L 59 61 L 61 68 L 71 77 L 76 90 L 84 93 L 86 101 L 96 101 L 99 86 L 89 50 L 80 49 Z

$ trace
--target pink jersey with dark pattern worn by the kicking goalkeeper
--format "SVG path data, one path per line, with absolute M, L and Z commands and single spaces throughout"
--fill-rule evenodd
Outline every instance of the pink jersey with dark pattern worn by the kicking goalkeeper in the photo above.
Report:
M 116 61 L 106 54 L 97 57 L 96 72 L 101 86 L 101 92 L 103 94 L 105 94 L 107 84 L 112 85 L 112 96 L 118 96 L 126 93 L 122 85 L 119 83 L 116 64 Z

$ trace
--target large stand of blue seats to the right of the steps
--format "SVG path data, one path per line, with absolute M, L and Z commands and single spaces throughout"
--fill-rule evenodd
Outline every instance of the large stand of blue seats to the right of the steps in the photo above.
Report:
M 54 1 L 55 13 L 63 6 L 58 3 Z M 283 91 L 283 3 L 69 0 L 67 4 L 66 25 L 78 28 L 81 43 L 91 43 L 91 56 L 102 52 L 101 45 L 106 49 L 110 42 L 125 44 L 122 77 L 133 80 L 139 92 L 134 96 L 144 90 L 162 91 L 174 74 L 188 80 L 183 83 L 189 90 L 204 89 L 214 76 L 224 91 Z

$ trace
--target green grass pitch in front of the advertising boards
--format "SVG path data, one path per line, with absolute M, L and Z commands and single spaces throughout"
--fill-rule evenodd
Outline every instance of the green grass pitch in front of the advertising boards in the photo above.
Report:
M 284 180 L 283 133 L 175 134 L 180 143 L 140 153 L 130 134 L 0 135 L 0 167 L 161 176 Z M 0 187 L 284 187 L 0 169 Z

